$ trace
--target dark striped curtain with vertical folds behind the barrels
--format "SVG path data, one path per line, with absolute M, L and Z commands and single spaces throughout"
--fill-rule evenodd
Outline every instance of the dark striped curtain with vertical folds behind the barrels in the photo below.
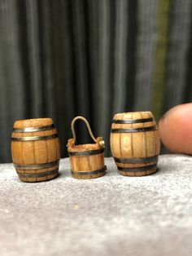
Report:
M 52 117 L 64 157 L 82 115 L 109 156 L 115 113 L 190 102 L 191 32 L 190 0 L 0 0 L 0 161 L 16 119 Z

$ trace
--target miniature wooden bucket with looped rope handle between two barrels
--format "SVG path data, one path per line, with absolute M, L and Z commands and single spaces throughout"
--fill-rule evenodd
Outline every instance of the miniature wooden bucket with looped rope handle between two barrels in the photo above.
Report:
M 95 143 L 76 145 L 74 124 L 76 120 L 85 121 L 89 135 Z M 72 120 L 73 139 L 68 139 L 68 155 L 70 157 L 72 177 L 75 179 L 94 179 L 106 174 L 104 165 L 104 141 L 102 137 L 95 139 L 89 122 L 84 117 Z

